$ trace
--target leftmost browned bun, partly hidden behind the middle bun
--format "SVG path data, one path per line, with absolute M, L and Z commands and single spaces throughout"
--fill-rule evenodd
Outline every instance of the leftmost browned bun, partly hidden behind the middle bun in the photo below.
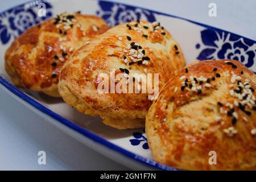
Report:
M 6 72 L 16 86 L 60 97 L 57 82 L 65 61 L 82 44 L 108 28 L 96 16 L 59 14 L 14 40 L 6 51 Z

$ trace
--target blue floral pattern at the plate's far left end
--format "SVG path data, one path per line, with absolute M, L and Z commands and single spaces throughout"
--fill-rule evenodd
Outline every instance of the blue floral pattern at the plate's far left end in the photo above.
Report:
M 52 5 L 49 2 L 41 2 L 46 5 L 46 16 L 38 16 L 38 6 L 30 3 L 17 6 L 0 14 L 0 39 L 2 44 L 9 43 L 11 38 L 18 37 L 29 27 L 52 16 Z

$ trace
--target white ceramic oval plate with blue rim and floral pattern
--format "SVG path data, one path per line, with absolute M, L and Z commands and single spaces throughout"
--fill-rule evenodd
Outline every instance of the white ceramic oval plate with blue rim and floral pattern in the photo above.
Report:
M 46 17 L 38 16 L 40 8 L 44 7 L 44 5 L 38 7 L 38 2 L 44 3 Z M 11 42 L 28 27 L 63 11 L 96 14 L 104 18 L 109 26 L 134 19 L 146 19 L 150 22 L 157 20 L 180 43 L 187 64 L 195 60 L 234 59 L 241 61 L 256 73 L 255 40 L 140 7 L 80 0 L 73 0 L 71 5 L 69 0 L 61 0 L 61 3 L 52 0 L 30 2 L 0 13 L 0 83 L 2 84 L 0 87 L 87 146 L 133 169 L 175 170 L 152 160 L 143 129 L 125 131 L 112 129 L 105 126 L 100 118 L 80 114 L 59 99 L 51 99 L 42 94 L 16 88 L 5 72 L 4 55 Z

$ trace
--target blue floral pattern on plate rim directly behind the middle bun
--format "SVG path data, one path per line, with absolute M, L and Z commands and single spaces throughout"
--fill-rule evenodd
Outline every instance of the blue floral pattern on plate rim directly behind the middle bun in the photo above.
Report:
M 156 20 L 154 13 L 138 7 L 104 1 L 99 1 L 98 5 L 100 6 L 100 10 L 97 10 L 96 14 L 105 19 L 110 27 L 137 19 L 144 19 L 149 22 Z

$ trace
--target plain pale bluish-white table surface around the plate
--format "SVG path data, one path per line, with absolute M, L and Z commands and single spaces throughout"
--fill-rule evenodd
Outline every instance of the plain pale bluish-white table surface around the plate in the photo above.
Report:
M 81 0 L 82 1 L 82 0 Z M 0 11 L 26 0 L 0 1 Z M 130 5 L 163 11 L 256 39 L 253 0 L 123 0 Z M 208 5 L 217 5 L 217 17 Z M 38 151 L 47 164 L 38 164 Z M 123 170 L 128 169 L 69 137 L 10 97 L 0 86 L 0 169 L 2 170 Z

